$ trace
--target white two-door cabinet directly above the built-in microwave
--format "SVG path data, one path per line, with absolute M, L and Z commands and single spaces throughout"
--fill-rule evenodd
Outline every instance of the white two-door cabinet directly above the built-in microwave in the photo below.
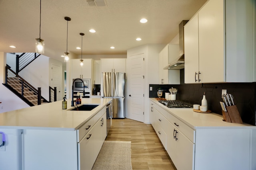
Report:
M 80 66 L 80 59 L 71 60 L 71 75 L 72 78 L 90 78 L 91 82 L 94 81 L 94 60 L 83 59 L 84 65 Z

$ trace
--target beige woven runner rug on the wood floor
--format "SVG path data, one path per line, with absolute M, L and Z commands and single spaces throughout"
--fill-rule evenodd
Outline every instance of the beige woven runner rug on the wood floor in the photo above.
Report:
M 104 141 L 92 170 L 132 170 L 131 142 Z

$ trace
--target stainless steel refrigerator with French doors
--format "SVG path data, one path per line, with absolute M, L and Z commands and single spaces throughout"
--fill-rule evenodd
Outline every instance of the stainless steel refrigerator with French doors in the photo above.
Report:
M 112 118 L 125 118 L 125 73 L 102 72 L 100 96 L 101 98 L 113 98 Z

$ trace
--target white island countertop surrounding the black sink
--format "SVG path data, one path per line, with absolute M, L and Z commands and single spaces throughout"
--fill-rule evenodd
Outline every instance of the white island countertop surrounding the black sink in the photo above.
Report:
M 111 98 L 82 98 L 82 104 L 99 104 L 91 111 L 62 109 L 62 101 L 0 113 L 0 129 L 42 129 L 74 131 L 106 106 Z M 80 106 L 80 105 L 78 105 Z

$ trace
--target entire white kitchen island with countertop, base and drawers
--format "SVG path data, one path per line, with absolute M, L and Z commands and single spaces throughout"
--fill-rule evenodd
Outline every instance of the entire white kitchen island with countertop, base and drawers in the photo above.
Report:
M 69 110 L 74 108 L 69 99 L 67 109 L 57 101 L 0 113 L 5 140 L 0 169 L 91 168 L 106 138 L 106 105 L 111 100 L 82 98 L 82 104 L 98 105 L 91 111 Z

